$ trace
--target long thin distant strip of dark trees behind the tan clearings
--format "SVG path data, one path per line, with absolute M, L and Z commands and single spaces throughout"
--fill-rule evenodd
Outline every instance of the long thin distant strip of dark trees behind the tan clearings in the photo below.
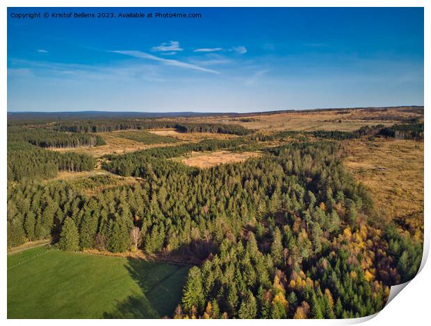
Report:
M 111 132 L 117 130 L 145 130 L 154 128 L 175 128 L 179 132 L 218 132 L 231 135 L 249 135 L 254 130 L 236 124 L 224 123 L 180 123 L 163 120 L 97 120 L 56 123 L 55 130 L 67 132 Z

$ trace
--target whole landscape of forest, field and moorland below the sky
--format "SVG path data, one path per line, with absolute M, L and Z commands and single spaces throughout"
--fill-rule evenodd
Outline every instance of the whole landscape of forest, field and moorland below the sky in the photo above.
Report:
M 423 152 L 422 107 L 14 116 L 8 317 L 375 314 L 421 263 Z

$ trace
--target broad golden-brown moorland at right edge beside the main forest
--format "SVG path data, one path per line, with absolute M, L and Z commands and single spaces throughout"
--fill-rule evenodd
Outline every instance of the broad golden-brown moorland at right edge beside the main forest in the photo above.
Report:
M 423 142 L 347 141 L 345 166 L 371 189 L 382 218 L 423 234 Z

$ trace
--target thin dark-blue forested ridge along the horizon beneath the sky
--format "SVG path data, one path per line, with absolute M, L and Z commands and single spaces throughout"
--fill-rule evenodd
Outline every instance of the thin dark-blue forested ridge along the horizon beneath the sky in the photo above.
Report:
M 332 110 L 387 110 L 387 109 L 422 110 L 421 105 L 402 105 L 366 108 L 317 108 L 298 110 L 273 110 L 265 112 L 110 112 L 110 111 L 77 111 L 77 112 L 8 112 L 8 120 L 52 120 L 52 119 L 115 119 L 115 118 L 175 118 L 175 117 L 250 117 L 288 112 L 319 112 Z

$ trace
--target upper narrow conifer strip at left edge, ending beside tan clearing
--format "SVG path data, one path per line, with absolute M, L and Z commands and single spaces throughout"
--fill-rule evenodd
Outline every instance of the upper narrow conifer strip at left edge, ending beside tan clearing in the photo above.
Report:
M 8 141 L 29 141 L 35 146 L 49 148 L 70 148 L 78 146 L 99 146 L 106 142 L 99 135 L 58 132 L 43 128 L 17 128 L 10 127 Z

